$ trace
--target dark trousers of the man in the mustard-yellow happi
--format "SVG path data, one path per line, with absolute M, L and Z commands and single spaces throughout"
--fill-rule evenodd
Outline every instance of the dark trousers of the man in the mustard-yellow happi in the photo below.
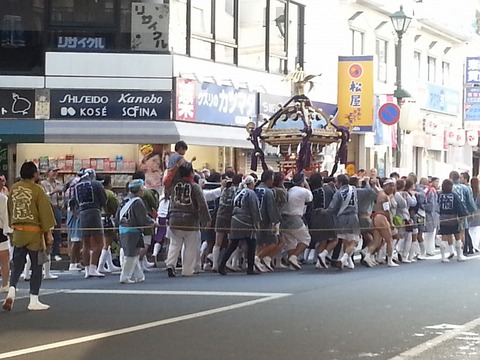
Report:
M 32 261 L 32 276 L 30 277 L 30 294 L 38 295 L 40 285 L 42 285 L 42 265 L 38 265 L 38 251 L 28 250 L 26 247 L 14 247 L 13 249 L 13 268 L 10 274 L 10 286 L 17 287 L 18 279 L 23 272 L 27 261 L 27 254 Z

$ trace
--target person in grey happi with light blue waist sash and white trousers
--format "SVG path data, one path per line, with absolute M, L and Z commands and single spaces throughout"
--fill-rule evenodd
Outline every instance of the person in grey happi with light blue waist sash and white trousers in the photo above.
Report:
M 123 199 L 115 215 L 116 223 L 119 224 L 120 244 L 125 256 L 120 274 L 122 284 L 133 284 L 145 280 L 140 266 L 140 250 L 145 247 L 143 230 L 154 225 L 158 226 L 158 223 L 148 215 L 145 203 L 142 201 L 143 186 L 142 179 L 133 179 L 129 182 L 129 194 Z

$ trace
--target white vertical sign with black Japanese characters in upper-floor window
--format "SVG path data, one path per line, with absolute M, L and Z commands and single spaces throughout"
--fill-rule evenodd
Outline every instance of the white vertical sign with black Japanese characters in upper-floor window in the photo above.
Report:
M 132 3 L 132 50 L 167 51 L 168 23 L 168 4 Z

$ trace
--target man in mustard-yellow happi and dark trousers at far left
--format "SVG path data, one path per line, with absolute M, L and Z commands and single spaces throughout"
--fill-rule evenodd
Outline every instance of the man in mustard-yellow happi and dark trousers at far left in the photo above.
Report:
M 20 169 L 21 181 L 11 188 L 8 198 L 8 214 L 13 249 L 13 268 L 10 274 L 10 288 L 3 303 L 3 309 L 10 311 L 15 301 L 18 280 L 23 271 L 27 255 L 32 262 L 30 279 L 30 303 L 28 310 L 47 310 L 49 305 L 38 300 L 42 284 L 42 265 L 38 262 L 39 251 L 53 244 L 51 229 L 55 226 L 55 217 L 49 199 L 43 189 L 35 184 L 38 168 L 31 162 L 25 162 Z

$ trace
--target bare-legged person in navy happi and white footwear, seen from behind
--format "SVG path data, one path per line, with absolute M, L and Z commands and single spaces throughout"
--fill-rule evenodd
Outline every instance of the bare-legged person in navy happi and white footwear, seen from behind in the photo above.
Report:
M 105 276 L 98 271 L 98 261 L 103 248 L 102 208 L 107 201 L 107 195 L 102 184 L 95 178 L 95 170 L 86 169 L 74 188 L 75 207 L 82 231 L 85 278 Z

